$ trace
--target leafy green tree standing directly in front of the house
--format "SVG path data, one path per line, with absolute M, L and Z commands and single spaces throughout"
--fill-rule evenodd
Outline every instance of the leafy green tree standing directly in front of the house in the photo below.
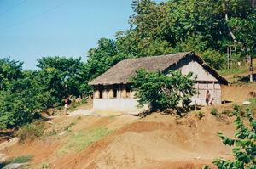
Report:
M 182 75 L 181 70 L 170 71 L 166 76 L 160 70 L 150 71 L 140 69 L 137 76 L 131 76 L 132 88 L 137 91 L 135 98 L 139 106 L 149 104 L 151 111 L 177 109 L 177 104 L 189 104 L 189 98 L 196 93 L 193 85 L 196 76 L 192 72 Z

